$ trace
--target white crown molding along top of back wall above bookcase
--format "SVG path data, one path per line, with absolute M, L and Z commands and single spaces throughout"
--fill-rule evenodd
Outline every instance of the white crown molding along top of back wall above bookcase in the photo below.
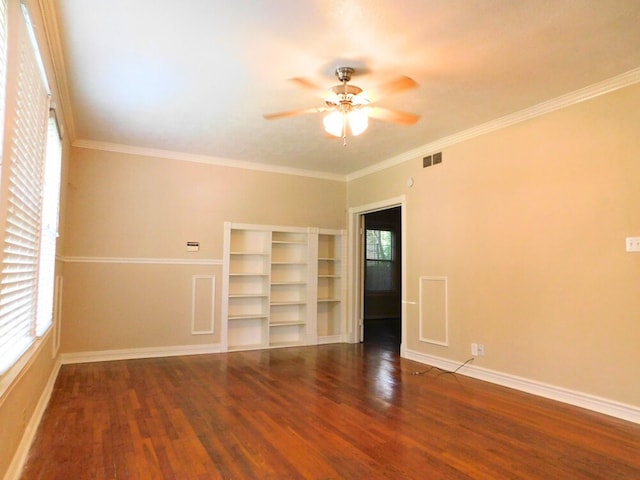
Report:
M 317 172 L 304 170 L 301 168 L 279 167 L 266 163 L 247 162 L 244 160 L 232 160 L 229 158 L 212 157 L 208 155 L 194 155 L 191 153 L 176 152 L 173 150 L 162 150 L 157 148 L 135 147 L 133 145 L 123 145 L 120 143 L 98 142 L 93 140 L 76 139 L 72 144 L 77 148 L 87 148 L 91 150 L 101 150 L 104 152 L 124 153 L 128 155 L 139 155 L 143 157 L 165 158 L 168 160 L 179 160 L 183 162 L 205 163 L 207 165 L 220 165 L 223 167 L 243 168 L 245 170 L 257 170 L 269 173 L 282 173 L 284 175 L 297 175 L 300 177 L 320 178 L 324 180 L 335 180 L 344 182 L 345 176 L 335 173 Z

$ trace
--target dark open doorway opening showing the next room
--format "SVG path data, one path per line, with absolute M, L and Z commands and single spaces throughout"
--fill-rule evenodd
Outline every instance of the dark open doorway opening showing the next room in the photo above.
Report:
M 402 343 L 402 209 L 363 216 L 363 342 L 400 351 Z

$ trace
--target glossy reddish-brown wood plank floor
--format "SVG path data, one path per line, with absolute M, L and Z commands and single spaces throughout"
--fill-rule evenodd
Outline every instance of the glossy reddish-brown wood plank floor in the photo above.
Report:
M 62 367 L 32 479 L 640 479 L 640 425 L 376 345 Z

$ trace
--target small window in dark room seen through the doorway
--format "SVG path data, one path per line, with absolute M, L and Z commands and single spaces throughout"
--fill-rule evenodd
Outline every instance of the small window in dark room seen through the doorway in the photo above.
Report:
M 394 232 L 366 230 L 365 289 L 368 292 L 395 290 Z

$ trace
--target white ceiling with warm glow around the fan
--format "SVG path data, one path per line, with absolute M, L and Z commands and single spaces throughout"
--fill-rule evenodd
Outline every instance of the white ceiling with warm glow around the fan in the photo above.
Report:
M 345 175 L 640 67 L 638 0 L 57 0 L 78 143 L 103 142 Z M 367 90 L 398 75 L 415 90 L 328 139 L 307 77 L 337 66 Z

